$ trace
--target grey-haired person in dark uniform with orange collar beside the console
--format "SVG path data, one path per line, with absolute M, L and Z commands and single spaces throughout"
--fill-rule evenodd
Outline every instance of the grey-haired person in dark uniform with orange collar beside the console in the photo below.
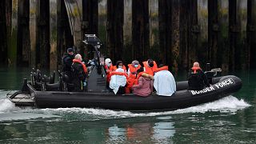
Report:
M 86 80 L 87 68 L 82 62 L 82 56 L 76 54 L 72 64 L 74 91 L 83 91 L 83 82 Z

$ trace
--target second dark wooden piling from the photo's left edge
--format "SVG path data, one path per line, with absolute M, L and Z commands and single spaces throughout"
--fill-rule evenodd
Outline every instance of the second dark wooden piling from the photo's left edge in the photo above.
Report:
M 18 1 L 17 66 L 30 66 L 30 0 Z

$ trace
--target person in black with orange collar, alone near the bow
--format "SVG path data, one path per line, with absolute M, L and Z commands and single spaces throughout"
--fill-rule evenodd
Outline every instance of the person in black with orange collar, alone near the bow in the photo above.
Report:
M 189 77 L 189 90 L 202 90 L 206 86 L 210 86 L 206 74 L 202 71 L 198 62 L 194 62 L 190 70 Z

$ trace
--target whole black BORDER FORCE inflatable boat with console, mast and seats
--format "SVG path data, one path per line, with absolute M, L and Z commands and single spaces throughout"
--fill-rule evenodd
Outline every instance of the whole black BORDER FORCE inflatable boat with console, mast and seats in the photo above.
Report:
M 42 76 L 40 70 L 32 70 L 31 81 L 24 79 L 22 90 L 7 94 L 16 106 L 35 106 L 38 108 L 86 107 L 109 110 L 176 110 L 212 102 L 238 91 L 242 87 L 240 78 L 232 75 L 216 77 L 220 70 L 210 70 L 206 74 L 210 87 L 203 90 L 187 90 L 188 82 L 177 82 L 177 91 L 172 96 L 148 97 L 134 94 L 115 95 L 106 88 L 106 71 L 100 58 L 101 42 L 94 34 L 86 34 L 86 45 L 93 46 L 94 54 L 88 71 L 87 86 L 84 92 L 70 92 L 72 84 L 66 74 L 59 71 L 59 81 L 54 83 L 54 75 Z M 104 61 L 104 58 L 103 58 Z M 71 90 L 72 91 L 72 90 Z

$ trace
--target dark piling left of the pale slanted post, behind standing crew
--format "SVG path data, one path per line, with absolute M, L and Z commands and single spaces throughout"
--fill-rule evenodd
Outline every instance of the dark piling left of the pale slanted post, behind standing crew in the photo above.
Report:
M 68 47 L 74 46 L 74 38 L 71 34 L 69 18 L 63 0 L 57 1 L 57 55 L 58 70 L 61 70 L 62 56 Z

